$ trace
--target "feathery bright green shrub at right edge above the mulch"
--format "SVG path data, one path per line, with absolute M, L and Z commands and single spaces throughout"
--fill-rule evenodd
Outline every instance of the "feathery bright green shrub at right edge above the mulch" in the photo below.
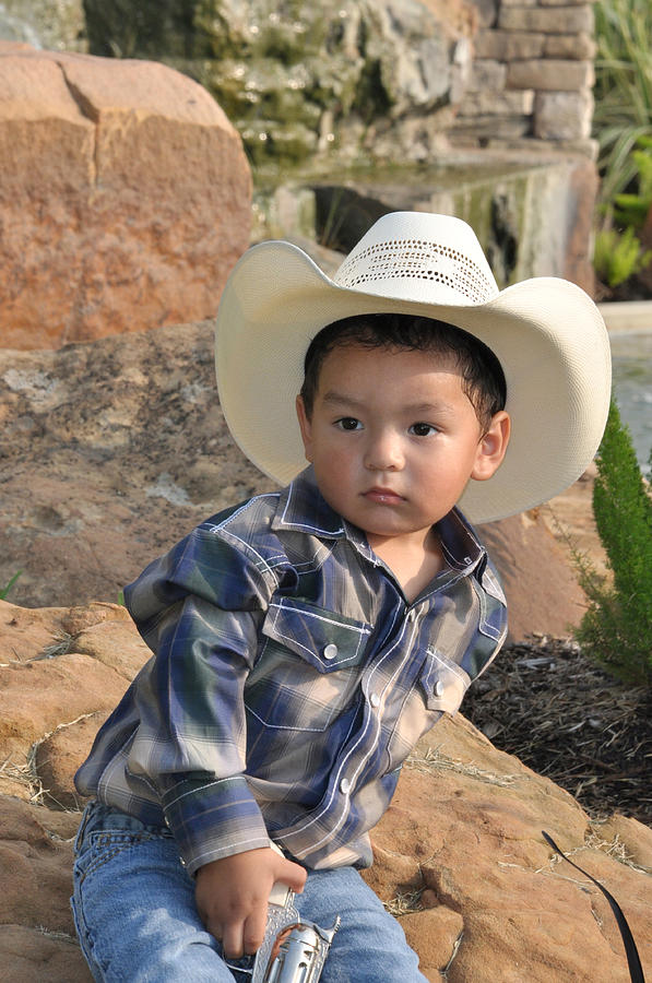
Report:
M 589 599 L 578 641 L 615 676 L 652 687 L 652 499 L 614 401 L 597 454 L 593 511 L 613 578 L 576 557 Z

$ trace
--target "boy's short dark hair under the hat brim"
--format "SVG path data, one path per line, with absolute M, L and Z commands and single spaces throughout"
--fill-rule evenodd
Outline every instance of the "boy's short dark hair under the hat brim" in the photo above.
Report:
M 319 375 L 327 355 L 341 345 L 369 348 L 410 348 L 452 356 L 462 377 L 462 389 L 471 400 L 481 426 L 486 429 L 491 417 L 505 408 L 507 386 L 498 358 L 473 334 L 446 321 L 413 315 L 356 315 L 327 324 L 312 339 L 304 360 L 301 398 L 308 417 Z

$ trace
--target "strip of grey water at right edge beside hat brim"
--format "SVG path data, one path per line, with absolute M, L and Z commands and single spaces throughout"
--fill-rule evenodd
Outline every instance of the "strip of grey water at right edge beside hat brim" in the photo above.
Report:
M 612 334 L 614 393 L 643 473 L 652 450 L 652 324 L 650 332 Z

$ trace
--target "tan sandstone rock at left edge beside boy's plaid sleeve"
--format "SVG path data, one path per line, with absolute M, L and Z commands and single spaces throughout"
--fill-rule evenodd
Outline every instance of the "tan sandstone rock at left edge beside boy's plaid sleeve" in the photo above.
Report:
M 74 772 L 150 655 L 119 605 L 0 601 L 0 792 L 79 809 Z

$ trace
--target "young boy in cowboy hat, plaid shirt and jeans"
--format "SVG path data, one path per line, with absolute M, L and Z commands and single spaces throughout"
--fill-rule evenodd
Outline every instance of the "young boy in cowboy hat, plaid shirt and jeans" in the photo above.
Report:
M 323 983 L 423 981 L 356 867 L 411 748 L 505 638 L 458 504 L 488 521 L 582 473 L 604 323 L 565 281 L 499 292 L 465 223 L 394 213 L 332 281 L 287 242 L 249 250 L 216 352 L 234 438 L 286 487 L 126 590 L 154 656 L 78 772 L 80 939 L 96 980 L 247 979 L 280 881 L 303 917 L 341 916 Z

